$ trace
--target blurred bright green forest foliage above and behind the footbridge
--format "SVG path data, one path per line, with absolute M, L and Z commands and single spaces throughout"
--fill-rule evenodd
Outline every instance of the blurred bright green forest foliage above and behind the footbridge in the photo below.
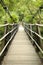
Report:
M 5 12 L 3 3 L 8 8 L 14 21 Z M 0 0 L 0 24 L 4 24 L 4 21 L 8 23 L 19 21 L 43 23 L 43 9 L 41 7 L 43 7 L 43 0 Z

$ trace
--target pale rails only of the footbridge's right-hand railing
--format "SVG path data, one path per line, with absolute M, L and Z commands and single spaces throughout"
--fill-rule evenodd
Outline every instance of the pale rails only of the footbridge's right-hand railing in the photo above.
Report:
M 31 36 L 31 34 L 32 33 L 34 33 L 35 35 L 37 35 L 40 39 L 42 39 L 43 40 L 43 37 L 40 35 L 40 34 L 38 34 L 38 33 L 36 33 L 36 32 L 34 32 L 31 28 L 29 28 L 28 26 L 38 26 L 38 27 L 43 27 L 43 24 L 26 24 L 26 23 L 24 23 L 24 28 L 25 28 L 25 31 L 26 31 L 26 33 L 29 35 L 29 37 L 32 39 L 32 41 L 34 41 L 35 42 L 35 45 L 38 47 L 38 49 L 40 50 L 40 52 L 43 54 L 43 49 L 40 47 L 40 45 L 36 42 L 36 40 L 34 40 L 34 38 Z M 28 31 L 30 31 L 31 32 L 31 34 L 28 32 Z

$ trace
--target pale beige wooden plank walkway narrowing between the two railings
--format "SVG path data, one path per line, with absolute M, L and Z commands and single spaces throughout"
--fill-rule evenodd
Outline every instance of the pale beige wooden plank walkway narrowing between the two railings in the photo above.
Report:
M 42 65 L 21 25 L 2 61 L 2 65 Z

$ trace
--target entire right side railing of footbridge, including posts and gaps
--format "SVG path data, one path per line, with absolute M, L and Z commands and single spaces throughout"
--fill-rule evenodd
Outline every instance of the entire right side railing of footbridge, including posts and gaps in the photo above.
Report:
M 36 45 L 39 52 L 43 56 L 43 24 L 26 24 L 23 23 L 24 29 L 32 42 Z M 42 30 L 41 30 L 42 29 Z

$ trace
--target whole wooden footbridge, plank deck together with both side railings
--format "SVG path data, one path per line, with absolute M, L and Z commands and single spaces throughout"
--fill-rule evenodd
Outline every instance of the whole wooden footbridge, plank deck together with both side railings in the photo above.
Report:
M 5 24 L 1 27 L 5 30 L 0 38 L 0 65 L 43 65 L 42 24 Z

